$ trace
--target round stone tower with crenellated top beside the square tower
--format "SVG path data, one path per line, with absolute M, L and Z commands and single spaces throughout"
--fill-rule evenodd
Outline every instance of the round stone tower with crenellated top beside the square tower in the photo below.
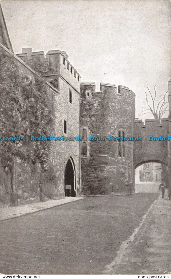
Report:
M 127 87 L 101 83 L 81 83 L 81 124 L 87 131 L 87 156 L 81 156 L 82 193 L 111 194 L 134 192 L 133 142 L 124 141 L 124 157 L 118 156 L 117 141 L 90 141 L 89 136 L 134 134 L 135 94 Z M 87 94 L 88 93 L 88 94 Z M 85 145 L 81 142 L 81 148 Z

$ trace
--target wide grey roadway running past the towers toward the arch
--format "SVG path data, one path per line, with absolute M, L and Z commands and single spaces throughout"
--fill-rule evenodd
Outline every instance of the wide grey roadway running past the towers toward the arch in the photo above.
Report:
M 0 273 L 101 274 L 157 197 L 91 197 L 1 222 Z

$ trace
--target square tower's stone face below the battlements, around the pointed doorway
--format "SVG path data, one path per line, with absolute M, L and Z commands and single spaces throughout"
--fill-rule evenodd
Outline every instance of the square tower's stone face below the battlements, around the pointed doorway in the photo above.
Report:
M 60 79 L 60 93 L 56 95 L 55 132 L 56 137 L 79 136 L 79 94 L 72 89 L 72 103 L 69 102 L 70 86 Z M 67 121 L 67 134 L 64 134 L 64 120 Z M 64 194 L 64 172 L 70 157 L 74 160 L 76 193 L 79 194 L 79 141 L 54 141 L 52 142 L 52 160 L 58 176 L 60 194 Z

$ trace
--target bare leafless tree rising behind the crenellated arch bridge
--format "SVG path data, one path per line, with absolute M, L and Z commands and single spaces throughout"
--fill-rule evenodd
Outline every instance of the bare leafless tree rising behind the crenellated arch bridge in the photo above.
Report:
M 157 84 L 156 84 L 157 85 Z M 156 86 L 155 85 L 155 86 Z M 152 93 L 147 87 L 148 91 L 145 90 L 146 102 L 148 109 L 143 110 L 140 115 L 143 114 L 152 114 L 155 119 L 161 119 L 163 114 L 168 111 L 168 101 L 167 101 L 167 92 L 162 95 L 161 98 L 157 99 L 157 93 L 154 86 L 154 92 Z

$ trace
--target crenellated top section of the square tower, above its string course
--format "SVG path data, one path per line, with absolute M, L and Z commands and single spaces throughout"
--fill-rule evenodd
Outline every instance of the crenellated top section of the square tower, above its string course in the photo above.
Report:
M 79 93 L 81 76 L 69 62 L 65 51 L 49 50 L 45 56 L 44 51 L 32 52 L 31 47 L 26 47 L 22 48 L 22 53 L 16 56 L 41 73 L 58 90 L 60 89 L 59 78 L 63 78 Z

